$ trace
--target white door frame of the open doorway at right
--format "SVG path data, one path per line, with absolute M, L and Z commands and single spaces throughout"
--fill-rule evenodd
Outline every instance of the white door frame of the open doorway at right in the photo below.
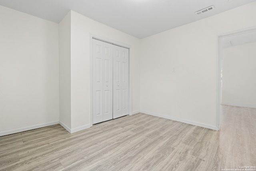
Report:
M 244 28 L 241 30 L 235 30 L 228 33 L 223 33 L 218 35 L 218 58 L 217 58 L 217 99 L 216 99 L 216 128 L 220 130 L 220 105 L 222 100 L 222 60 L 223 60 L 223 54 L 222 54 L 222 38 L 226 38 L 229 36 L 234 36 L 237 34 L 243 34 L 246 32 L 253 32 L 256 31 L 256 27 L 250 27 L 250 28 Z

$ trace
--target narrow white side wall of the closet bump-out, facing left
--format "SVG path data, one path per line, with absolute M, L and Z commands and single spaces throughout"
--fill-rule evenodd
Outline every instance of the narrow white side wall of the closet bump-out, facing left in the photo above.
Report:
M 71 12 L 59 24 L 60 124 L 71 128 Z

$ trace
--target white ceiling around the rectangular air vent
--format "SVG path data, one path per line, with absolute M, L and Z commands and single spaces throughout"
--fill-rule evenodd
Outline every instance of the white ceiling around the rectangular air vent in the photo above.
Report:
M 256 0 L 0 0 L 0 5 L 59 23 L 70 11 L 145 38 Z M 195 12 L 214 5 L 201 15 Z

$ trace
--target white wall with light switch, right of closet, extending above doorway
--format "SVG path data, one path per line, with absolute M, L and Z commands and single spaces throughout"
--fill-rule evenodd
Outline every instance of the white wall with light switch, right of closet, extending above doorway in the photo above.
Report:
M 253 2 L 142 39 L 140 110 L 217 129 L 218 35 L 256 26 L 255 9 Z

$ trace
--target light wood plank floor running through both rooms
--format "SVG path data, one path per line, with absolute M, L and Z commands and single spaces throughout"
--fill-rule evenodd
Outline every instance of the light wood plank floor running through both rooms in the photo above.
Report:
M 0 170 L 220 171 L 256 166 L 256 109 L 222 106 L 220 131 L 138 113 L 68 133 L 0 137 Z

